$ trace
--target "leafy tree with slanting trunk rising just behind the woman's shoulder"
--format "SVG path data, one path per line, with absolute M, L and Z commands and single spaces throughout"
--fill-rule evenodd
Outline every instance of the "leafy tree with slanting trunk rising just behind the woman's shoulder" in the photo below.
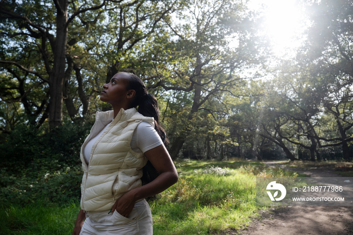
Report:
M 165 47 L 153 47 L 158 76 L 150 81 L 150 88 L 162 87 L 166 95 L 185 92 L 191 99 L 184 127 L 172 139 L 172 158 L 178 157 L 195 128 L 199 111 L 207 109 L 209 100 L 220 101 L 224 92 L 236 87 L 244 79 L 237 73 L 254 65 L 261 49 L 255 42 L 253 22 L 240 2 L 196 1 L 177 17 L 169 24 L 176 37 L 169 38 Z M 234 44 L 229 45 L 230 39 Z

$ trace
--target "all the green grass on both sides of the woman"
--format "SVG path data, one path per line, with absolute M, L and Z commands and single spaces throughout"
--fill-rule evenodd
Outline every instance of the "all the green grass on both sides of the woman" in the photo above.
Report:
M 180 180 L 150 201 L 154 234 L 217 234 L 251 223 L 256 205 L 256 177 L 286 177 L 292 172 L 266 168 L 259 162 L 178 161 Z M 1 234 L 71 234 L 79 202 L 69 205 L 41 202 L 4 207 Z

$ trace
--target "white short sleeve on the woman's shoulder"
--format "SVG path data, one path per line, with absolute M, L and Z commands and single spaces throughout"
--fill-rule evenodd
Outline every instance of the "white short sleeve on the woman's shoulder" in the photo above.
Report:
M 134 131 L 131 140 L 131 149 L 136 152 L 144 153 L 161 144 L 163 144 L 163 141 L 151 124 L 142 122 Z

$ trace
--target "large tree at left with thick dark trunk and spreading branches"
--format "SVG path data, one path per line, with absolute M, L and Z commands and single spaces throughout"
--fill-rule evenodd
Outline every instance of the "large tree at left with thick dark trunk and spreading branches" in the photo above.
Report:
M 79 111 L 85 115 L 104 83 L 102 73 L 110 80 L 112 73 L 127 68 L 127 63 L 120 65 L 123 58 L 128 61 L 136 54 L 134 46 L 161 27 L 159 22 L 177 5 L 175 1 L 2 1 L 1 40 L 10 43 L 2 48 L 0 66 L 11 80 L 3 86 L 3 99 L 21 101 L 38 125 L 46 118 L 50 127 L 60 125 L 63 110 L 72 120 Z M 108 71 L 102 63 L 111 65 Z M 17 90 L 16 96 L 9 96 L 10 90 Z M 34 92 L 37 99 L 31 96 Z

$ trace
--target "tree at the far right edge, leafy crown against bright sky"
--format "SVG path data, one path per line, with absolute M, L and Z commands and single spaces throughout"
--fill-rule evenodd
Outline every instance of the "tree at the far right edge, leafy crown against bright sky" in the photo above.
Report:
M 334 118 L 338 134 L 326 138 L 316 135 L 315 138 L 321 147 L 341 145 L 343 158 L 349 160 L 352 153 L 348 143 L 353 140 L 347 135 L 353 126 L 353 53 L 350 45 L 353 39 L 353 6 L 346 0 L 325 0 L 315 1 L 310 4 L 310 9 L 312 26 L 308 29 L 308 42 L 301 59 L 312 68 L 310 78 L 320 81 L 316 88 L 326 89 L 322 97 L 324 112 Z

